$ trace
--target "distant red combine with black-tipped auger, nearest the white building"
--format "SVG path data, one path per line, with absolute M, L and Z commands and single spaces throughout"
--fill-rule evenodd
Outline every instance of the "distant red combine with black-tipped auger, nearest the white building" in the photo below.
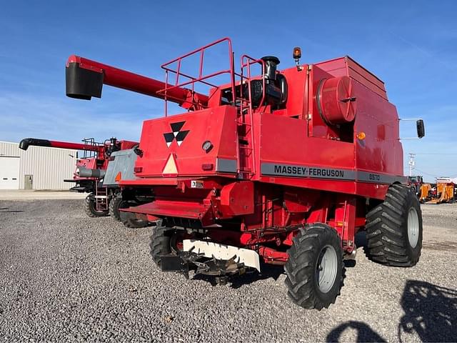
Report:
M 66 141 L 49 141 L 47 139 L 26 138 L 19 143 L 19 148 L 29 149 L 29 146 L 47 146 L 51 148 L 73 149 L 84 151 L 84 156 L 76 160 L 74 177 L 65 182 L 76 183 L 70 190 L 73 192 L 89 193 L 84 202 L 84 212 L 89 217 L 104 217 L 111 214 L 116 220 L 121 220 L 119 200 L 116 194 L 119 187 L 102 187 L 106 168 L 111 154 L 123 149 L 138 146 L 135 141 L 118 141 L 116 138 L 107 139 L 104 143 L 96 143 L 94 139 L 84 139 L 83 143 Z M 116 199 L 114 202 L 113 199 Z

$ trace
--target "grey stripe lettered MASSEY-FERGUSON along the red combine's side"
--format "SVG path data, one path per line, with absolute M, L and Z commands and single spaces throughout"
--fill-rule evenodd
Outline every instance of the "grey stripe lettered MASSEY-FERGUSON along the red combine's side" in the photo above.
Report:
M 308 177 L 311 179 L 336 179 L 346 181 L 373 182 L 376 184 L 393 184 L 406 182 L 406 177 L 361 172 L 353 169 L 334 169 L 322 166 L 303 166 L 297 164 L 278 164 L 263 162 L 261 174 L 278 177 Z

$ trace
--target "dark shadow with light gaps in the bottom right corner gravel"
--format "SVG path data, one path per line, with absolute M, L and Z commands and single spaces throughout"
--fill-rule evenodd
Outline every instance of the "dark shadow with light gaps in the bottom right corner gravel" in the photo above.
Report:
M 408 280 L 401 307 L 405 314 L 398 324 L 401 333 L 416 332 L 422 342 L 456 342 L 457 291 L 424 281 Z

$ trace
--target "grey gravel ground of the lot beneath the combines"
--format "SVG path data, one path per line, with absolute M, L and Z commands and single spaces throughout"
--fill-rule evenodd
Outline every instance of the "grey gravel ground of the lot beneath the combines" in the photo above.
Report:
M 213 287 L 163 273 L 151 228 L 89 219 L 81 200 L 0 202 L 0 341 L 457 341 L 457 206 L 424 205 L 416 267 L 358 248 L 336 304 L 293 305 L 281 268 Z M 363 237 L 359 237 L 363 242 Z

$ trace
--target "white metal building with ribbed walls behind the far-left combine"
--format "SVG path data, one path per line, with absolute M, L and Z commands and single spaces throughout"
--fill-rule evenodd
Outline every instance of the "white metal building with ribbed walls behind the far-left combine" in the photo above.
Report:
M 0 141 L 0 189 L 69 189 L 75 165 L 76 150 Z

